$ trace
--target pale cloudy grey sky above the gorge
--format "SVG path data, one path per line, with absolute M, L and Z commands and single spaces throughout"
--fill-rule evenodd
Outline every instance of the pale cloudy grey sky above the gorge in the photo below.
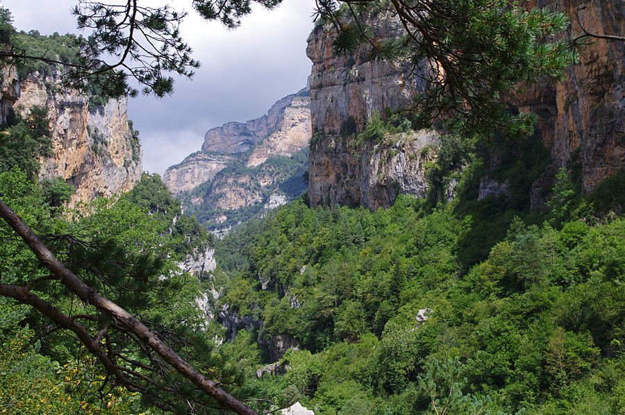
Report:
M 78 33 L 70 12 L 76 3 L 0 0 L 18 31 L 37 29 L 42 35 Z M 312 65 L 306 38 L 313 28 L 314 0 L 284 0 L 272 11 L 255 7 L 234 31 L 203 21 L 191 0 L 168 3 L 189 12 L 181 34 L 202 66 L 192 81 L 178 79 L 172 96 L 140 96 L 128 103 L 128 117 L 142 139 L 144 170 L 161 175 L 201 149 L 208 129 L 261 117 L 275 101 L 303 88 Z

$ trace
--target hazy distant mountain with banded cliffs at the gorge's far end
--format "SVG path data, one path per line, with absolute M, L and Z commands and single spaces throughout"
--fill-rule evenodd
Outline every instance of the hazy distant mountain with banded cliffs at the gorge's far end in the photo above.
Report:
M 169 167 L 163 181 L 185 212 L 219 233 L 263 214 L 265 205 L 275 204 L 272 196 L 301 194 L 307 164 L 302 151 L 312 135 L 307 94 L 280 99 L 260 119 L 209 130 L 201 152 Z

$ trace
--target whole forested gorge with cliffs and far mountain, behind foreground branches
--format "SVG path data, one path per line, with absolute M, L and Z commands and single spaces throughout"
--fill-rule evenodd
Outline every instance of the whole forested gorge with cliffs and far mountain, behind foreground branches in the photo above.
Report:
M 625 33 L 617 0 L 520 3 L 566 12 L 572 33 Z M 403 33 L 397 16 L 375 13 L 389 4 L 363 12 L 376 42 Z M 52 75 L 19 83 L 6 70 L 3 121 L 9 108 L 24 122 L 46 105 L 55 151 L 40 176 L 77 191 L 51 207 L 38 178 L 0 169 L 1 197 L 76 275 L 255 412 L 427 415 L 442 402 L 449 413 L 622 414 L 625 42 L 596 38 L 562 81 L 503 94 L 510 113 L 538 116 L 533 135 L 508 137 L 420 128 L 399 110 L 423 79 L 372 58 L 370 44 L 337 53 L 338 36 L 317 20 L 309 87 L 208 130 L 163 180 L 140 174 L 124 99 L 90 108 Z M 79 200 L 90 210 L 74 220 Z M 63 414 L 100 403 L 120 415 L 160 414 L 163 403 L 222 411 L 123 322 L 67 294 L 4 223 L 0 232 L 0 289 L 53 303 L 124 372 L 109 378 L 80 342 L 43 335 L 54 323 L 0 296 L 0 403 L 37 411 L 8 393 L 22 388 Z M 38 382 L 26 361 L 44 362 Z M 89 396 L 124 376 L 138 392 L 94 403 L 49 386 Z

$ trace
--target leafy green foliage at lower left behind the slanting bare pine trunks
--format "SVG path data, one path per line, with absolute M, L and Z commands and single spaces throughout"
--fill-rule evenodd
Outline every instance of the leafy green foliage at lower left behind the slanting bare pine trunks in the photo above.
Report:
M 190 299 L 198 295 L 197 287 L 186 284 L 182 288 L 185 276 L 170 257 L 172 243 L 165 234 L 165 226 L 147 212 L 125 201 L 99 199 L 83 206 L 82 211 L 53 217 L 53 207 L 46 203 L 40 184 L 17 169 L 0 173 L 0 193 L 2 200 L 85 283 L 126 310 L 149 319 L 155 330 L 172 327 L 169 336 L 181 334 L 178 328 L 182 321 L 185 330 L 199 328 L 201 316 L 195 307 L 189 306 Z M 71 215 L 74 220 L 68 220 Z M 3 284 L 27 285 L 31 293 L 69 316 L 93 313 L 90 305 L 73 298 L 63 285 L 49 277 L 31 250 L 4 222 L 0 223 L 0 237 Z M 11 375 L 0 377 L 1 399 L 3 402 L 9 399 L 3 408 L 20 414 L 46 411 L 90 414 L 97 413 L 99 405 L 109 407 L 112 414 L 144 410 L 140 396 L 115 385 L 106 387 L 106 373 L 96 359 L 85 354 L 81 344 L 61 331 L 50 330 L 54 326 L 38 314 L 29 314 L 27 319 L 23 314 L 6 317 L 6 301 L 1 300 L 0 304 L 0 354 L 3 364 L 8 365 L 3 373 Z M 13 303 L 11 309 L 22 310 Z M 93 315 L 92 319 L 82 316 L 76 319 L 81 319 L 81 325 L 88 331 L 92 331 L 90 325 L 94 324 L 93 330 L 97 332 L 100 317 Z M 10 323 L 6 323 L 7 319 Z M 119 345 L 128 340 L 124 332 L 110 327 L 106 336 Z M 133 359 L 149 362 L 140 353 L 133 353 Z M 33 383 L 35 379 L 37 382 Z M 16 393 L 18 390 L 23 392 Z

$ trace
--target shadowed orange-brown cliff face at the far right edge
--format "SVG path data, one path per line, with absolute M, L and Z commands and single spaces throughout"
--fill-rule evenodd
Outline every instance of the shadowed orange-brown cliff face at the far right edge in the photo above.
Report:
M 525 3 L 567 13 L 572 33 L 582 32 L 581 23 L 599 35 L 625 35 L 620 0 Z M 551 171 L 581 164 L 583 190 L 590 192 L 625 166 L 625 42 L 592 39 L 565 75 L 561 83 L 542 81 L 511 101 L 542 116 L 539 130 L 544 144 L 551 147 L 555 164 Z

